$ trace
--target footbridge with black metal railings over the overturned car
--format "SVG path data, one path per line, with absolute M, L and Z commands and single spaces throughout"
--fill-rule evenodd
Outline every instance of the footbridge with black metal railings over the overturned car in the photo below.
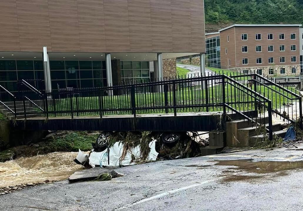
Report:
M 25 80 L 20 84 L 16 96 L 0 86 L 2 111 L 15 129 L 211 131 L 235 119 L 259 125 L 265 117 L 270 139 L 273 117 L 302 128 L 301 97 L 255 73 L 50 93 Z

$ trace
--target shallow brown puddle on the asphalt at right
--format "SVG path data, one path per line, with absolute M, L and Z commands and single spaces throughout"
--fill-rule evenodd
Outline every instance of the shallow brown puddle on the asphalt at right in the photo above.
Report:
M 291 170 L 295 168 L 303 168 L 303 162 L 285 162 L 285 161 L 258 161 L 253 162 L 252 159 L 246 160 L 223 160 L 223 161 L 215 161 L 217 162 L 215 165 L 224 165 L 224 166 L 236 166 L 235 170 L 242 170 L 245 172 L 251 173 L 274 173 L 283 170 Z

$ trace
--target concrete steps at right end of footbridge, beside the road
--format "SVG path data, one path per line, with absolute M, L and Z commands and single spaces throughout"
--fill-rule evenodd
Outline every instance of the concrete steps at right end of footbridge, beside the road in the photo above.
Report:
M 257 120 L 265 124 L 268 128 L 268 117 L 262 117 Z M 263 134 L 257 130 L 253 123 L 244 120 L 236 120 L 225 123 L 226 128 L 226 145 L 229 147 L 252 147 L 256 143 L 263 141 Z M 284 138 L 286 131 L 282 130 L 281 124 L 273 124 L 272 131 Z

